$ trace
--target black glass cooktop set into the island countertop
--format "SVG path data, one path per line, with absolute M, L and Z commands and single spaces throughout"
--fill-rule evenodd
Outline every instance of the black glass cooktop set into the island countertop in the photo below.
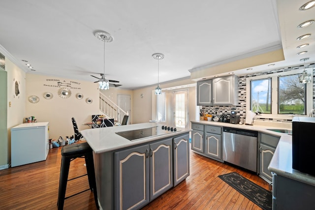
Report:
M 164 126 L 163 126 L 164 128 Z M 153 137 L 153 136 L 160 136 L 167 133 L 174 133 L 178 130 L 173 130 L 173 128 L 170 130 L 162 129 L 161 127 L 155 126 L 155 127 L 149 127 L 149 128 L 142 128 L 142 129 L 136 129 L 136 130 L 127 130 L 127 131 L 121 131 L 116 132 L 116 134 L 130 140 L 135 141 L 143 138 Z

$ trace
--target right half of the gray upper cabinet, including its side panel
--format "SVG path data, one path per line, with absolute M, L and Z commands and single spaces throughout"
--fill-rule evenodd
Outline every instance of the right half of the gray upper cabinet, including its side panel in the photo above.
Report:
M 215 78 L 213 82 L 213 105 L 237 105 L 238 77 L 235 75 Z

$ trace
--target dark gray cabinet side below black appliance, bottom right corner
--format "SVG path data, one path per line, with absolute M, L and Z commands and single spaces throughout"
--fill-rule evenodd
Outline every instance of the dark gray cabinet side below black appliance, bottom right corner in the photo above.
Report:
M 277 174 L 273 176 L 273 210 L 314 210 L 315 186 Z

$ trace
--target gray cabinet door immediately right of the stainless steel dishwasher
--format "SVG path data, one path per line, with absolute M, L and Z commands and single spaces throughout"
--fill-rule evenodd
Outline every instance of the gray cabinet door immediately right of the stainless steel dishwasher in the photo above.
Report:
M 271 171 L 268 170 L 271 158 L 275 153 L 275 149 L 264 144 L 260 144 L 260 169 L 259 174 L 266 179 L 272 181 Z

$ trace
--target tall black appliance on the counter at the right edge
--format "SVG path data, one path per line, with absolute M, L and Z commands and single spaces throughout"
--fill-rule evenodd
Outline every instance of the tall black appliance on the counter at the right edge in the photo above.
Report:
M 315 176 L 315 118 L 293 117 L 292 168 Z

